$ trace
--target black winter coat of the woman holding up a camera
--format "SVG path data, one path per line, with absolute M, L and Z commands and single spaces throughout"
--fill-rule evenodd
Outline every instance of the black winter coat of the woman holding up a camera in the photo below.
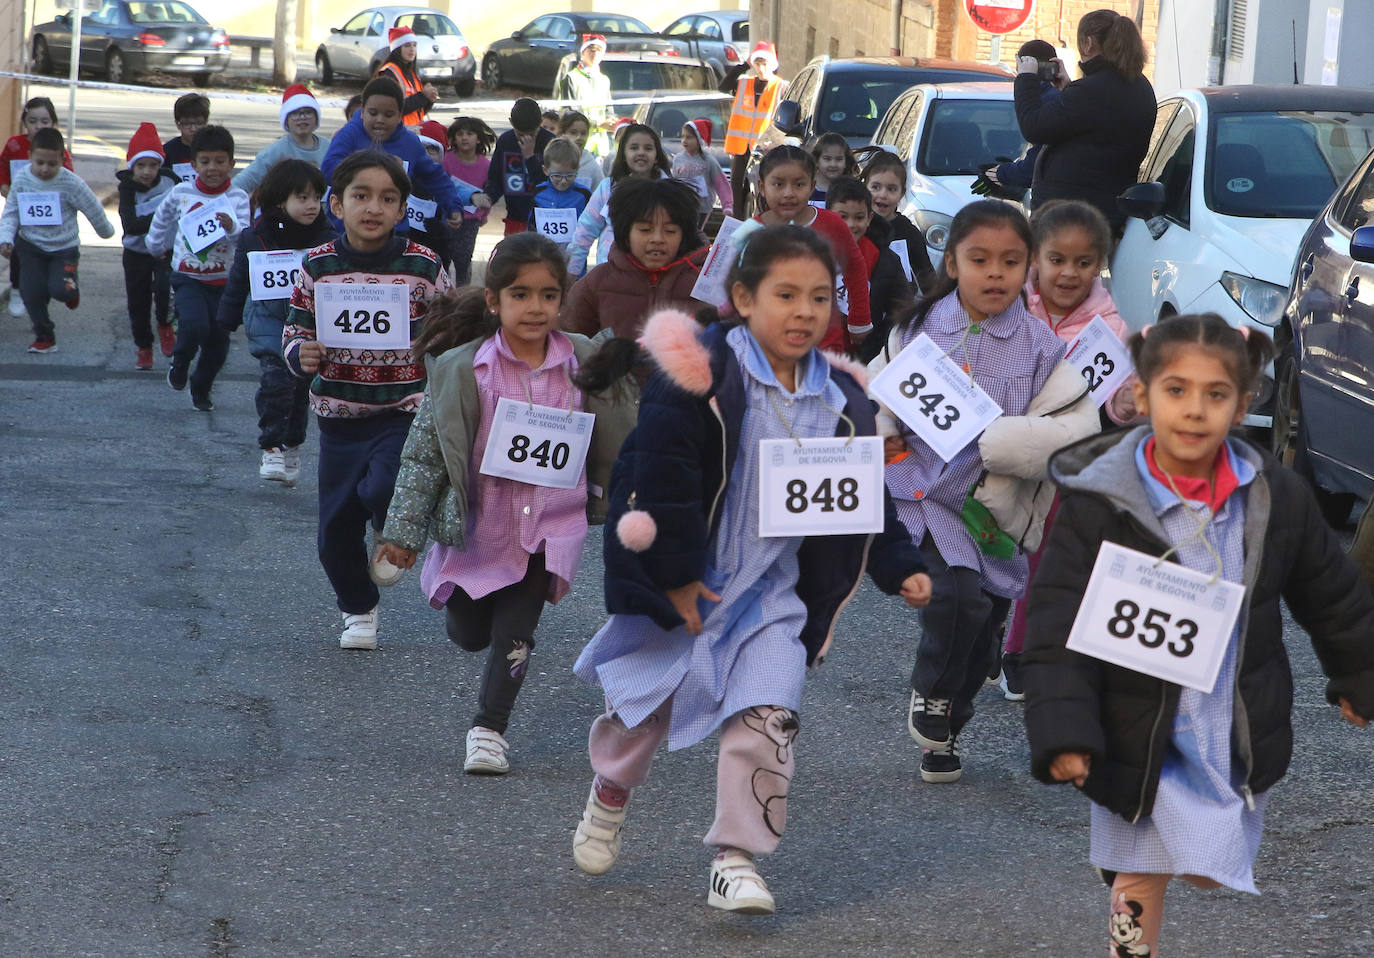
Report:
M 1143 76 L 1128 80 L 1101 56 L 1080 66 L 1083 77 L 1050 99 L 1036 74 L 1017 77 L 1021 135 L 1043 146 L 1030 203 L 1081 199 L 1120 230 L 1125 214 L 1116 198 L 1140 176 L 1154 131 L 1154 88 Z

